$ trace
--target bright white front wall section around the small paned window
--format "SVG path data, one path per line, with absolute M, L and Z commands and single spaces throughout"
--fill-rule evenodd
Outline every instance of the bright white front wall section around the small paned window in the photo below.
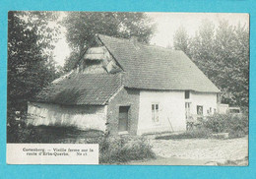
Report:
M 152 104 L 160 105 L 160 122 L 152 120 Z M 185 131 L 184 91 L 140 91 L 140 109 L 137 134 L 163 131 Z

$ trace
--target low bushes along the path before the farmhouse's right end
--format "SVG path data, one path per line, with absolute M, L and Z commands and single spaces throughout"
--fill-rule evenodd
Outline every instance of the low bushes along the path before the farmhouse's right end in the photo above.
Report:
M 201 124 L 190 131 L 177 135 L 160 136 L 157 139 L 212 138 L 213 134 L 228 133 L 228 138 L 241 138 L 248 135 L 248 115 L 215 114 L 202 120 Z

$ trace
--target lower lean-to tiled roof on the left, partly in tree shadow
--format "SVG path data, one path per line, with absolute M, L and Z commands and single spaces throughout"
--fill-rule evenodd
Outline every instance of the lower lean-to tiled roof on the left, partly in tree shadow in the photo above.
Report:
M 72 74 L 42 89 L 36 101 L 103 105 L 122 86 L 122 74 Z

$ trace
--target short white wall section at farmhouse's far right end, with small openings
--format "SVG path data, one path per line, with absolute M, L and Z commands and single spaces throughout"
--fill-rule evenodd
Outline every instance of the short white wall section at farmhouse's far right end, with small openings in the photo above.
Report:
M 191 101 L 191 114 L 197 114 L 197 105 L 203 106 L 203 115 L 208 115 L 210 108 L 212 114 L 217 110 L 217 93 L 191 91 L 187 101 Z

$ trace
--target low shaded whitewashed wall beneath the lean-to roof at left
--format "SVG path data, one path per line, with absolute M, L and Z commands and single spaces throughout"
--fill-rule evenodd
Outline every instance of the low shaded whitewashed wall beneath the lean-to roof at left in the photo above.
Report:
M 63 106 L 31 102 L 28 125 L 74 126 L 79 129 L 104 131 L 107 106 Z

